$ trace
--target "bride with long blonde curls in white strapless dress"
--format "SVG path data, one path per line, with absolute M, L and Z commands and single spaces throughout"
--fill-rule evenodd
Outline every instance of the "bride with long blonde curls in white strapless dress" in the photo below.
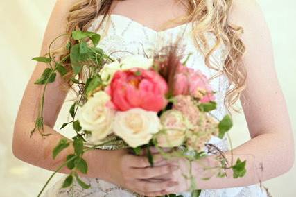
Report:
M 182 35 L 185 51 L 192 53 L 188 66 L 202 69 L 208 76 L 215 71 L 222 74 L 211 80 L 217 92 L 218 108 L 213 115 L 218 119 L 234 109 L 241 99 L 243 112 L 252 139 L 234 149 L 234 160 L 247 160 L 247 174 L 243 178 L 204 180 L 200 164 L 193 164 L 197 187 L 201 196 L 267 196 L 259 182 L 286 173 L 293 166 L 293 136 L 286 101 L 277 80 L 268 27 L 259 6 L 252 0 L 57 0 L 44 35 L 41 54 L 50 42 L 75 28 L 96 31 L 103 37 L 98 45 L 114 58 L 130 53 L 153 55 L 162 44 Z M 67 42 L 60 39 L 54 48 Z M 125 53 L 123 51 L 128 51 Z M 49 85 L 44 105 L 44 130 L 51 133 L 42 138 L 35 127 L 41 88 L 34 81 L 42 74 L 45 64 L 38 63 L 21 101 L 13 153 L 20 160 L 54 171 L 71 153 L 67 148 L 53 160 L 51 153 L 62 135 L 53 130 L 62 103 L 67 96 L 64 80 Z M 215 69 L 216 68 L 216 69 Z M 217 72 L 218 73 L 218 72 Z M 230 86 L 229 86 L 230 85 Z M 238 131 L 239 132 L 239 131 Z M 211 139 L 227 157 L 225 140 Z M 184 161 L 176 163 L 161 158 L 153 168 L 146 157 L 129 155 L 120 147 L 106 147 L 85 153 L 89 172 L 84 176 L 91 189 L 73 185 L 60 189 L 62 180 L 46 191 L 46 196 L 162 196 L 182 194 L 189 189 L 182 170 Z M 112 150 L 110 150 L 112 149 Z M 116 150 L 114 150 L 116 149 Z M 155 152 L 157 155 L 157 152 Z M 214 165 L 211 157 L 203 162 Z M 66 168 L 60 172 L 69 173 Z

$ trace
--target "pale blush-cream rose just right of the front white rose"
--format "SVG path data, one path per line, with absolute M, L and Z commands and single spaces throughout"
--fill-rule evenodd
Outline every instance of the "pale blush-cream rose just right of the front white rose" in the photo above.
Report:
M 157 134 L 157 144 L 160 147 L 168 148 L 180 146 L 186 137 L 186 130 L 189 121 L 177 110 L 168 110 L 160 117 L 162 132 Z

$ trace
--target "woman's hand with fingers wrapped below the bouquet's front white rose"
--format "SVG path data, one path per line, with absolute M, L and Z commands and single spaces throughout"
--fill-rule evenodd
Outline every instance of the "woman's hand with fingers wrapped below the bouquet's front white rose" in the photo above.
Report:
M 146 156 L 130 155 L 127 151 L 115 156 L 110 172 L 114 173 L 116 185 L 144 196 L 162 196 L 168 187 L 178 184 L 171 180 L 178 166 L 169 164 L 159 154 L 153 155 L 154 167 L 150 167 Z

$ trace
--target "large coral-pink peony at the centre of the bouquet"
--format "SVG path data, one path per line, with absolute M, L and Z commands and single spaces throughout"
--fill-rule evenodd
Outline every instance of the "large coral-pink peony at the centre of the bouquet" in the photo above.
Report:
M 140 68 L 116 71 L 108 93 L 116 110 L 132 108 L 158 112 L 166 104 L 168 85 L 156 71 Z

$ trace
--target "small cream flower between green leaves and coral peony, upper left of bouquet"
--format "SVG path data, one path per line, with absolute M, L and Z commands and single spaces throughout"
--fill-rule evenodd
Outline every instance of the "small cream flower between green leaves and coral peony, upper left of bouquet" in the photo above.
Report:
M 102 80 L 109 85 L 116 71 L 121 69 L 121 64 L 118 61 L 111 62 L 106 64 L 100 71 L 100 76 Z

